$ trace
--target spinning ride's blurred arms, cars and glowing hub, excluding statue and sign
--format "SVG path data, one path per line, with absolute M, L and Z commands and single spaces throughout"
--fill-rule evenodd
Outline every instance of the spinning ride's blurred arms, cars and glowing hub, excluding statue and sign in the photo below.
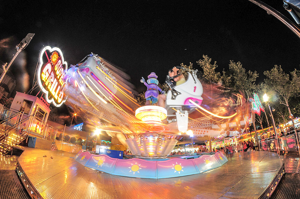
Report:
M 172 78 L 168 76 L 170 90 L 165 107 L 140 106 L 133 98 L 129 76 L 98 55 L 90 54 L 66 71 L 66 104 L 84 115 L 94 128 L 117 137 L 136 157 L 165 158 L 178 142 L 178 136 L 189 129 L 195 137 L 220 136 L 225 129 L 211 129 L 209 117 L 189 117 L 195 108 L 211 112 L 200 106 L 203 88 L 197 71 L 186 72 L 187 81 L 179 86 L 171 85 Z

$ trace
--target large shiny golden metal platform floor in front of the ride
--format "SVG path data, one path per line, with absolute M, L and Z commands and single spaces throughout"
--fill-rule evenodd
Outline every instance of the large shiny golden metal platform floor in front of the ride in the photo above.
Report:
M 69 156 L 75 154 L 26 148 L 18 162 L 44 198 L 59 199 L 253 199 L 259 198 L 283 165 L 276 153 L 234 153 L 223 166 L 201 174 L 140 179 L 85 168 Z

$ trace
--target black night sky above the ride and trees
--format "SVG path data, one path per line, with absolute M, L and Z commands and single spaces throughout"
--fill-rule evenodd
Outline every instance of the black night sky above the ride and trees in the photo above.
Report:
M 202 55 L 220 71 L 240 61 L 259 73 L 257 83 L 274 64 L 286 72 L 299 68 L 299 38 L 247 0 L 109 2 L 2 0 L 0 39 L 14 35 L 19 42 L 35 33 L 25 49 L 31 81 L 39 51 L 49 45 L 69 65 L 90 52 L 100 55 L 124 69 L 139 92 L 146 91 L 141 76 L 155 72 L 163 83 L 168 69 L 182 62 L 196 67 Z M 291 19 L 282 1 L 264 2 Z

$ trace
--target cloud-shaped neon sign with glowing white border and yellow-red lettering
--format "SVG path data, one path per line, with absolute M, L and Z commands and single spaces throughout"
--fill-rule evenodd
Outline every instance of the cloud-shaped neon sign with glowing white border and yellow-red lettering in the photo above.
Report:
M 65 83 L 63 81 L 67 62 L 59 48 L 45 46 L 39 55 L 38 84 L 46 94 L 48 103 L 59 107 L 66 101 L 64 94 Z

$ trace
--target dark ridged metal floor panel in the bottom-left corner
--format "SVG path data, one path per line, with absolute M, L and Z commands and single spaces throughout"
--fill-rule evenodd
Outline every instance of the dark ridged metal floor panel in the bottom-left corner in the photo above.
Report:
M 1 199 L 29 199 L 14 170 L 0 171 L 0 198 Z

